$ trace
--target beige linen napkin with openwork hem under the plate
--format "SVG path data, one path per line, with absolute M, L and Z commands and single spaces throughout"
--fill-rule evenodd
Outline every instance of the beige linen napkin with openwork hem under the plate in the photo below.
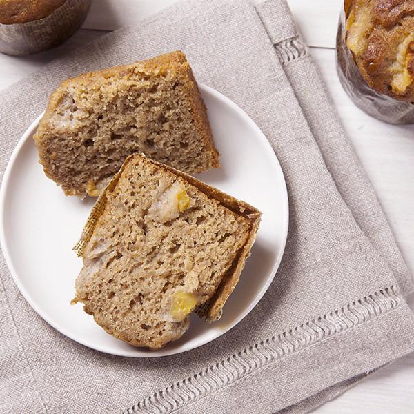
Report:
M 214 342 L 128 359 L 48 326 L 1 259 L 1 412 L 304 413 L 414 351 L 413 284 L 283 0 L 179 3 L 1 92 L 1 169 L 59 81 L 177 48 L 254 119 L 282 164 L 290 228 L 275 280 Z

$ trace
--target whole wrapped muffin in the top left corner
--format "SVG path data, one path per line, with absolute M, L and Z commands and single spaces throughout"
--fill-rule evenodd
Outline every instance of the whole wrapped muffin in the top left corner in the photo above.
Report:
M 58 46 L 89 7 L 90 0 L 0 0 L 0 52 L 27 55 Z

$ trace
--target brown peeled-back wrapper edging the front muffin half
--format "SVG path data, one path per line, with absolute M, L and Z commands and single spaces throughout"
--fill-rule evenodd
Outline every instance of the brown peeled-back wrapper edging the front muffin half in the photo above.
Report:
M 144 154 L 130 155 L 124 162 L 124 165 L 121 167 L 119 172 L 117 172 L 117 174 L 110 181 L 110 184 L 108 184 L 107 188 L 103 191 L 95 206 L 92 208 L 86 226 L 85 228 L 83 228 L 81 239 L 74 248 L 75 253 L 77 253 L 78 256 L 83 255 L 83 250 L 85 246 L 88 244 L 90 237 L 92 237 L 97 221 L 99 220 L 99 217 L 105 210 L 107 201 L 106 194 L 112 191 L 113 188 L 115 188 L 122 171 L 124 170 L 124 168 L 126 168 L 128 162 L 133 157 L 145 157 L 152 164 L 155 164 L 156 166 L 159 166 L 164 170 L 167 170 L 179 177 L 184 178 L 186 181 L 188 181 L 189 184 L 198 188 L 198 190 L 206 194 L 208 197 L 216 199 L 217 201 L 219 201 L 220 204 L 222 204 L 229 210 L 233 211 L 233 213 L 235 213 L 236 215 L 241 215 L 242 217 L 245 217 L 248 219 L 248 221 L 250 221 L 250 230 L 248 233 L 248 238 L 242 250 L 239 251 L 239 254 L 233 262 L 233 265 L 230 267 L 226 275 L 221 280 L 221 284 L 217 288 L 215 295 L 212 297 L 212 299 L 210 299 L 208 304 L 204 304 L 197 311 L 197 313 L 201 317 L 204 317 L 208 322 L 214 322 L 215 320 L 221 317 L 224 304 L 226 304 L 228 297 L 233 292 L 235 286 L 239 282 L 240 274 L 242 273 L 242 270 L 246 263 L 246 259 L 250 254 L 250 249 L 253 246 L 253 243 L 255 242 L 257 230 L 259 228 L 261 213 L 259 212 L 259 210 L 257 210 L 257 208 L 250 206 L 250 204 L 247 204 L 244 201 L 235 199 L 235 197 L 231 197 L 226 193 L 221 193 L 221 191 L 217 190 L 217 188 L 208 186 L 208 184 L 199 181 L 199 179 L 196 179 L 195 177 L 188 175 L 185 172 L 181 172 L 179 170 L 176 170 L 175 168 L 166 166 L 157 161 L 149 159 Z

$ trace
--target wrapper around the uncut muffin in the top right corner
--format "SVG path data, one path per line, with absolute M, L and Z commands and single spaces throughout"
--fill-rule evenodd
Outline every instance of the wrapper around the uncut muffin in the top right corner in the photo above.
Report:
M 398 101 L 368 85 L 345 43 L 346 15 L 339 17 L 336 39 L 336 66 L 339 81 L 355 105 L 371 117 L 389 124 L 414 124 L 414 103 Z

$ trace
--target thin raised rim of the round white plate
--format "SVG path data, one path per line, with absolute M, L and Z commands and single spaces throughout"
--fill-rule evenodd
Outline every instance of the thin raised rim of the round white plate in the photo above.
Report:
M 17 285 L 17 288 L 19 289 L 19 292 L 21 293 L 23 298 L 26 300 L 26 302 L 28 302 L 28 304 L 31 306 L 33 311 L 36 312 L 37 315 L 39 315 L 50 326 L 52 326 L 52 328 L 56 329 L 59 333 L 61 333 L 62 335 L 65 335 L 66 337 L 72 339 L 72 341 L 75 341 L 78 344 L 81 344 L 83 346 L 87 346 L 88 348 L 91 348 L 95 351 L 99 351 L 99 352 L 102 352 L 102 353 L 106 353 L 108 355 L 116 355 L 116 356 L 119 356 L 119 357 L 130 357 L 130 358 L 166 357 L 166 356 L 169 356 L 169 355 L 177 355 L 179 353 L 186 353 L 188 351 L 193 351 L 194 349 L 199 348 L 200 346 L 204 346 L 204 345 L 206 345 L 210 342 L 213 342 L 215 339 L 218 339 L 219 337 L 221 337 L 221 335 L 224 335 L 225 333 L 227 333 L 228 331 L 233 329 L 235 326 L 237 326 L 237 324 L 242 322 L 242 320 L 251 311 L 253 311 L 255 306 L 260 302 L 260 300 L 262 299 L 262 297 L 264 296 L 264 294 L 267 292 L 268 288 L 270 287 L 270 284 L 272 284 L 273 280 L 275 279 L 275 275 L 277 273 L 277 270 L 279 269 L 279 266 L 282 262 L 282 258 L 284 257 L 284 251 L 285 251 L 285 248 L 286 248 L 286 241 L 287 241 L 287 237 L 288 237 L 288 228 L 289 228 L 288 190 L 287 190 L 286 179 L 285 179 L 285 176 L 284 176 L 284 172 L 282 170 L 282 166 L 280 165 L 279 159 L 277 158 L 277 155 L 276 155 L 275 151 L 273 150 L 272 146 L 270 145 L 270 142 L 268 141 L 266 135 L 264 135 L 264 132 L 262 132 L 262 130 L 259 128 L 259 126 L 257 126 L 257 124 L 255 123 L 255 121 L 253 121 L 253 119 L 251 119 L 250 116 L 242 108 L 240 108 L 237 105 L 237 103 L 233 102 L 230 98 L 226 97 L 226 95 L 223 95 L 221 92 L 215 90 L 214 88 L 211 88 L 210 86 L 207 86 L 204 83 L 197 82 L 197 85 L 198 85 L 199 89 L 201 90 L 201 92 L 206 92 L 210 95 L 213 95 L 214 97 L 216 97 L 220 101 L 224 101 L 224 103 L 227 106 L 230 106 L 230 108 L 235 110 L 235 112 L 237 112 L 238 115 L 243 117 L 247 121 L 247 123 L 250 124 L 250 126 L 253 129 L 257 130 L 257 132 L 258 132 L 257 135 L 259 135 L 260 139 L 262 139 L 264 146 L 268 146 L 268 150 L 270 150 L 272 155 L 275 157 L 276 164 L 277 164 L 276 168 L 279 169 L 279 172 L 281 174 L 281 177 L 283 179 L 282 181 L 283 181 L 283 184 L 284 184 L 283 190 L 282 190 L 282 193 L 283 193 L 284 197 L 283 197 L 282 200 L 279 200 L 279 202 L 284 204 L 284 212 L 285 212 L 285 214 L 284 214 L 284 227 L 285 228 L 284 228 L 284 235 L 283 235 L 283 239 L 282 239 L 282 244 L 281 244 L 280 250 L 279 250 L 279 255 L 277 256 L 275 264 L 273 265 L 273 268 L 271 270 L 271 276 L 268 277 L 268 279 L 266 280 L 266 284 L 264 284 L 264 286 L 259 291 L 259 293 L 257 293 L 255 299 L 250 304 L 250 306 L 248 306 L 244 310 L 244 312 L 240 313 L 238 315 L 238 317 L 235 318 L 235 321 L 232 324 L 230 324 L 226 328 L 222 329 L 221 331 L 219 331 L 217 333 L 217 335 L 214 335 L 212 338 L 209 338 L 205 342 L 195 344 L 195 346 L 193 346 L 191 348 L 188 348 L 186 350 L 172 349 L 171 352 L 161 353 L 161 355 L 157 355 L 158 351 L 162 352 L 163 350 L 166 349 L 166 348 L 160 348 L 159 350 L 155 350 L 155 351 L 152 351 L 150 353 L 146 353 L 146 355 L 128 355 L 128 353 L 124 353 L 122 350 L 120 350 L 119 352 L 108 351 L 105 348 L 102 348 L 101 346 L 99 346 L 99 344 L 91 344 L 88 341 L 88 339 L 83 339 L 82 337 L 79 338 L 79 337 L 76 337 L 75 335 L 72 335 L 71 333 L 66 331 L 65 326 L 57 326 L 57 324 L 55 324 L 55 322 L 53 322 L 49 318 L 47 312 L 43 312 L 43 311 L 41 311 L 40 308 L 38 308 L 37 302 L 32 299 L 32 297 L 30 296 L 30 293 L 28 293 L 26 288 L 24 288 L 23 284 L 21 284 L 20 279 L 19 279 L 19 274 L 17 273 L 17 270 L 14 268 L 14 264 L 13 264 L 13 261 L 12 261 L 11 255 L 10 255 L 10 250 L 8 248 L 8 243 L 6 242 L 6 230 L 5 230 L 6 193 L 7 193 L 7 190 L 8 190 L 8 185 L 10 184 L 10 174 L 12 172 L 12 168 L 14 166 L 14 163 L 15 163 L 18 155 L 19 155 L 19 152 L 20 152 L 22 146 L 29 139 L 30 135 L 32 135 L 35 128 L 37 128 L 37 125 L 39 124 L 39 121 L 40 121 L 41 117 L 43 117 L 43 114 L 44 114 L 44 111 L 43 111 L 41 113 L 41 115 L 39 115 L 39 117 L 37 117 L 36 119 L 34 119 L 34 121 L 32 121 L 32 124 L 30 124 L 30 126 L 28 126 L 28 128 L 25 130 L 25 132 L 23 132 L 23 135 L 21 136 L 21 138 L 19 139 L 17 145 L 14 147 L 14 150 L 12 151 L 12 155 L 10 156 L 10 159 L 8 160 L 8 164 L 7 164 L 6 169 L 4 171 L 4 174 L 3 174 L 3 179 L 1 180 L 1 186 L 0 186 L 0 246 L 1 246 L 1 250 L 3 252 L 3 257 L 6 261 L 6 264 L 8 266 L 8 270 L 10 271 L 10 275 L 12 276 L 12 279 L 13 279 L 14 283 Z

